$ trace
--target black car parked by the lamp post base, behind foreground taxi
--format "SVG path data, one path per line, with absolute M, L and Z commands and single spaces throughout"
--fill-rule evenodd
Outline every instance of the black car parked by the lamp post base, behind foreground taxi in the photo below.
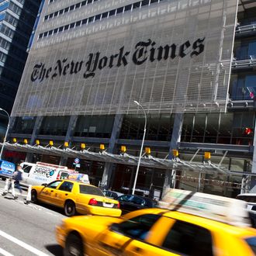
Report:
M 119 201 L 123 214 L 137 209 L 157 207 L 156 201 L 140 195 L 121 195 L 116 200 Z

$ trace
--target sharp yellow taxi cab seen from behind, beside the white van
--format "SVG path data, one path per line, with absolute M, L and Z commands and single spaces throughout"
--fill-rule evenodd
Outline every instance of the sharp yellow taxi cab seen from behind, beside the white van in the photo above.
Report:
M 119 202 L 107 198 L 98 187 L 71 180 L 32 186 L 31 201 L 64 208 L 67 216 L 81 213 L 118 217 L 122 213 Z

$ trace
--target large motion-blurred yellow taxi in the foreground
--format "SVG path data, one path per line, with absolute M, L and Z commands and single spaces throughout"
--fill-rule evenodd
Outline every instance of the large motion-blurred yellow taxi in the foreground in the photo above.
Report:
M 249 227 L 246 209 L 240 210 L 242 201 L 233 203 L 234 206 L 216 198 L 206 198 L 206 201 L 195 196 L 188 203 L 183 200 L 182 206 L 173 203 L 175 206 L 171 210 L 141 209 L 122 218 L 67 218 L 56 228 L 57 242 L 64 248 L 65 256 L 256 255 L 256 230 Z M 225 206 L 232 213 L 226 211 L 226 216 L 211 213 L 208 218 L 203 216 L 206 213 L 201 213 L 208 206 L 210 210 Z M 234 211 L 237 206 L 239 209 Z M 189 213 L 185 213 L 184 208 Z M 192 208 L 195 208 L 194 213 Z

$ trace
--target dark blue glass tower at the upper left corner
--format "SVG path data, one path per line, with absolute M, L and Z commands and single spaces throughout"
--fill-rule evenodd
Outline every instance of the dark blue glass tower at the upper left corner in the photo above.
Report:
M 0 107 L 11 113 L 22 71 L 26 63 L 27 47 L 40 0 L 0 1 Z M 0 133 L 8 122 L 2 116 Z

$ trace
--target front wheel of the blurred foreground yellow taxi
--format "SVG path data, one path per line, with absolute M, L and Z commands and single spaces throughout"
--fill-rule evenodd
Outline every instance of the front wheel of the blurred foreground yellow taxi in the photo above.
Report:
M 64 247 L 64 256 L 83 256 L 83 242 L 76 234 L 69 234 Z

